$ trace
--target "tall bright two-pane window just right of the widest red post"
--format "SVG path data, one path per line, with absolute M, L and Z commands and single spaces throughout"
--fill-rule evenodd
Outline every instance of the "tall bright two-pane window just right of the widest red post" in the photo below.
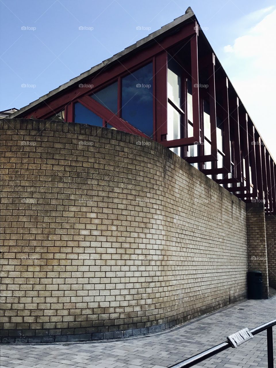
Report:
M 182 138 L 181 120 L 184 112 L 181 109 L 181 68 L 174 59 L 168 61 L 168 84 L 167 84 L 167 133 L 168 141 Z M 180 156 L 180 147 L 170 148 Z

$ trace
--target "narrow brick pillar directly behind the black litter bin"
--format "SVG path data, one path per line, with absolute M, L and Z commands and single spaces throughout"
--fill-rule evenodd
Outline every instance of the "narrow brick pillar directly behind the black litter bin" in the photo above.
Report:
M 263 203 L 247 203 L 248 269 L 262 272 L 263 298 L 268 298 L 265 209 Z

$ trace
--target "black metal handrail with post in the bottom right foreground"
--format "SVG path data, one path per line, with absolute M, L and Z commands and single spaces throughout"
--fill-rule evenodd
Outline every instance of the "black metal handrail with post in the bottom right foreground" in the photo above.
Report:
M 267 330 L 267 342 L 268 342 L 268 368 L 273 368 L 273 334 L 272 327 L 276 325 L 276 319 L 265 323 L 261 326 L 258 326 L 252 329 L 250 332 L 252 335 L 257 335 L 260 332 Z M 219 345 L 216 345 L 208 350 L 203 351 L 197 355 L 192 356 L 186 360 L 183 360 L 180 363 L 171 365 L 169 368 L 187 368 L 192 367 L 193 365 L 202 362 L 203 360 L 220 353 L 220 351 L 226 350 L 231 347 L 231 343 L 227 340 Z

